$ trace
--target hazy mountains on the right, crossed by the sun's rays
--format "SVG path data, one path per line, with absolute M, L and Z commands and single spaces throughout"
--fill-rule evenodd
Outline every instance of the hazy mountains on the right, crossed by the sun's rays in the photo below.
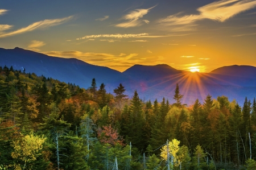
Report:
M 239 69 L 238 69 L 239 68 Z M 243 103 L 245 97 L 256 97 L 256 68 L 252 66 L 232 65 L 218 68 L 210 73 L 191 73 L 176 70 L 169 65 L 134 65 L 123 74 L 133 77 L 141 88 L 137 89 L 142 98 L 163 97 L 174 102 L 176 84 L 184 94 L 184 103 L 191 104 L 198 98 L 201 103 L 210 94 L 213 98 L 227 96 Z M 246 76 L 243 76 L 246 75 Z

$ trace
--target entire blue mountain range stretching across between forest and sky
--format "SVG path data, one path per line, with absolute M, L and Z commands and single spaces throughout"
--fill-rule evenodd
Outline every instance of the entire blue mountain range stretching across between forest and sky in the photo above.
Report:
M 134 65 L 121 73 L 107 67 L 85 63 L 77 59 L 51 57 L 42 53 L 22 48 L 0 48 L 0 65 L 14 69 L 26 69 L 37 75 L 56 78 L 64 82 L 72 82 L 83 88 L 88 88 L 92 78 L 96 78 L 97 86 L 102 82 L 106 90 L 113 93 L 119 83 L 125 86 L 126 94 L 133 96 L 137 90 L 142 99 L 162 101 L 166 97 L 174 102 L 176 84 L 184 94 L 184 103 L 192 104 L 196 98 L 203 103 L 207 94 L 213 98 L 227 96 L 232 101 L 236 99 L 240 105 L 247 96 L 256 97 L 256 68 L 247 65 L 232 65 L 217 68 L 210 73 L 191 73 L 180 71 L 166 64 Z

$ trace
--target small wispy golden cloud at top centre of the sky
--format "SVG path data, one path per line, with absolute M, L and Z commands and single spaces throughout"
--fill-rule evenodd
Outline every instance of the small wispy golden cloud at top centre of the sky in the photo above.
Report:
M 144 15 L 146 15 L 150 11 L 150 9 L 154 7 L 155 6 L 149 9 L 135 9 L 133 11 L 130 11 L 130 13 L 122 16 L 122 19 L 129 20 L 129 21 L 116 24 L 115 27 L 122 27 L 122 28 L 137 27 L 137 26 L 141 26 L 142 22 L 149 23 L 148 20 L 141 20 L 141 18 Z

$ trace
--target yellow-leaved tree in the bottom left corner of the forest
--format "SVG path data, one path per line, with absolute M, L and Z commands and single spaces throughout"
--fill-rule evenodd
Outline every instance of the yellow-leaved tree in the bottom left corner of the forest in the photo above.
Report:
M 43 143 L 46 141 L 44 136 L 40 137 L 30 132 L 29 135 L 22 136 L 19 140 L 14 140 L 11 146 L 14 147 L 14 152 L 11 156 L 14 159 L 19 159 L 24 163 L 23 169 L 26 168 L 26 164 L 36 160 L 43 148 Z M 21 169 L 20 165 L 15 166 L 15 169 Z

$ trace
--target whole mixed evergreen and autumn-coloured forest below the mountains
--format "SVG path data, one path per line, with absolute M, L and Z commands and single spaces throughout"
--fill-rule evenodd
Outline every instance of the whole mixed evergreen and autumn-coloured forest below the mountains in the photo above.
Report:
M 0 67 L 0 169 L 256 169 L 256 101 L 144 101 Z

